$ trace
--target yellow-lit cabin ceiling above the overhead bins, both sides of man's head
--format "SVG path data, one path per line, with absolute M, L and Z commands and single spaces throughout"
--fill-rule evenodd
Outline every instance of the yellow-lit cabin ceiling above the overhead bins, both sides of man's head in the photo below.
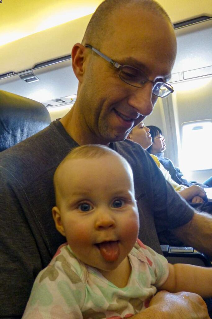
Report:
M 211 0 L 158 0 L 173 23 L 212 16 Z M 0 74 L 71 54 L 101 0 L 2 0 Z M 15 41 L 14 41 L 15 40 Z M 12 41 L 12 42 L 11 42 Z

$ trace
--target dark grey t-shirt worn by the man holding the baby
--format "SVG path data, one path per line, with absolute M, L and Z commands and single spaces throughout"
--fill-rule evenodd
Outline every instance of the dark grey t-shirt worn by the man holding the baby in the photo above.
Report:
M 38 272 L 65 237 L 55 229 L 53 174 L 77 143 L 61 122 L 0 153 L 0 318 L 21 318 Z M 194 211 L 165 181 L 149 154 L 129 140 L 110 147 L 133 169 L 139 238 L 161 253 L 157 233 L 188 223 Z

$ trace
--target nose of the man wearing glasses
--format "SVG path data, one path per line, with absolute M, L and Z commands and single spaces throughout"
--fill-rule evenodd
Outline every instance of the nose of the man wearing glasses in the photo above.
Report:
M 137 110 L 140 115 L 152 113 L 157 97 L 152 93 L 152 83 L 147 82 L 142 87 L 133 88 L 128 97 L 128 104 Z

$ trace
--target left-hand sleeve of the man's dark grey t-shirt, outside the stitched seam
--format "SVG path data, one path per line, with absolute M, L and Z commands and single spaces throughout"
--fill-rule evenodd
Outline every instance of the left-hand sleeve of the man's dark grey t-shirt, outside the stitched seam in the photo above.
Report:
M 16 181 L 0 170 L 0 318 L 22 318 L 34 276 L 41 269 L 38 248 L 16 196 Z M 21 196 L 21 194 L 20 194 Z

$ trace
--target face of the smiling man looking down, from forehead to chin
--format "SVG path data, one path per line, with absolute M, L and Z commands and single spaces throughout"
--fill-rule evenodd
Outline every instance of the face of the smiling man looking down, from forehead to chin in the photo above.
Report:
M 176 42 L 167 19 L 131 6 L 115 12 L 110 26 L 112 32 L 97 49 L 120 64 L 143 70 L 150 80 L 170 75 Z M 125 139 L 153 110 L 157 97 L 152 83 L 141 88 L 124 83 L 112 64 L 92 52 L 85 65 L 79 89 L 82 130 L 90 131 L 99 144 Z

